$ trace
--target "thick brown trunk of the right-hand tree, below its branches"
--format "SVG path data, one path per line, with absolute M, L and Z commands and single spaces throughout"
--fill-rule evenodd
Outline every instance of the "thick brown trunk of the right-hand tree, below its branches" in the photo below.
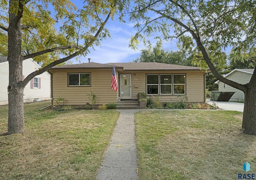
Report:
M 242 132 L 256 135 L 256 89 L 244 92 L 244 115 Z

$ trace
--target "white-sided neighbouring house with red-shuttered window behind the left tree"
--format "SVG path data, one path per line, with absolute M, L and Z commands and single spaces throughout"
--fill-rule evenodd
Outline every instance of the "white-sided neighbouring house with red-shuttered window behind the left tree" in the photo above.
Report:
M 32 58 L 23 61 L 22 78 L 26 78 L 30 73 L 41 68 Z M 8 104 L 8 84 L 9 84 L 9 62 L 7 57 L 0 57 L 0 105 Z M 34 77 L 24 88 L 24 102 L 38 100 L 50 100 L 50 74 L 44 72 Z

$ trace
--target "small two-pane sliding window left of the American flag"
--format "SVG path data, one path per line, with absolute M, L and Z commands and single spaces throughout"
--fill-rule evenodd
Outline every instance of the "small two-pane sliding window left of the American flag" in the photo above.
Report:
M 90 73 L 69 73 L 68 86 L 90 86 L 91 74 Z

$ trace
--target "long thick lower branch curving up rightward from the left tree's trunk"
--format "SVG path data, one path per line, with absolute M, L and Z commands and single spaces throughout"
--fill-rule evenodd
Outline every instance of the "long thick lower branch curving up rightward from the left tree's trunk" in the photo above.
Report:
M 65 58 L 56 60 L 50 64 L 48 64 L 47 66 L 45 66 L 44 68 L 40 68 L 39 70 L 36 70 L 34 72 L 32 72 L 31 74 L 29 74 L 23 81 L 19 82 L 19 86 L 21 86 L 22 88 L 24 88 L 26 86 L 26 84 L 28 84 L 28 82 L 34 78 L 35 76 L 42 74 L 43 72 L 46 72 L 47 70 L 49 70 L 50 68 L 52 68 L 53 66 L 56 66 L 57 64 L 60 64 L 62 62 L 66 62 L 67 60 L 70 60 L 74 57 L 76 57 L 77 55 L 85 52 L 92 44 L 93 42 L 98 38 L 98 36 L 100 35 L 100 33 L 102 32 L 104 26 L 106 25 L 106 23 L 108 22 L 108 19 L 110 18 L 112 14 L 112 10 L 110 10 L 110 12 L 108 13 L 108 16 L 106 17 L 105 21 L 101 24 L 100 28 L 98 29 L 98 31 L 96 32 L 96 34 L 93 36 L 93 38 L 90 40 L 90 42 L 88 42 L 86 44 L 86 46 L 84 46 L 81 50 L 71 54 L 70 56 L 67 56 Z

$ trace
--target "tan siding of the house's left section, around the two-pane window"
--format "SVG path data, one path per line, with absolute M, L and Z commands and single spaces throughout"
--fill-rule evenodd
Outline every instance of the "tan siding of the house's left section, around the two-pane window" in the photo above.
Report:
M 68 87 L 68 73 L 91 73 L 91 86 Z M 53 98 L 64 98 L 64 104 L 90 103 L 90 91 L 96 94 L 96 104 L 117 102 L 117 93 L 111 89 L 112 69 L 105 70 L 51 70 Z M 54 101 L 53 101 L 54 102 Z

